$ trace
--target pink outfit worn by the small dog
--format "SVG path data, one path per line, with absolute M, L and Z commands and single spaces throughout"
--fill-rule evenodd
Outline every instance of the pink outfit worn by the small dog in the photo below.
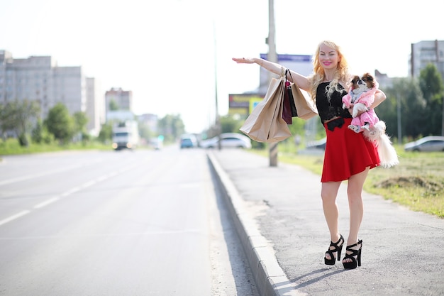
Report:
M 360 97 L 357 98 L 357 100 L 354 102 L 354 104 L 361 103 L 364 104 L 367 108 L 370 108 L 374 102 L 374 94 L 376 93 L 376 90 L 378 89 L 379 84 L 375 82 L 374 87 L 367 90 L 367 92 L 363 92 L 360 94 Z M 347 108 L 350 108 L 350 105 L 352 104 L 352 88 L 348 90 L 348 94 L 345 94 L 343 97 L 343 104 L 347 106 Z M 376 124 L 379 121 L 378 116 L 376 115 L 376 112 L 374 109 L 370 109 L 369 111 L 366 111 L 362 113 L 360 116 L 356 116 L 352 119 L 352 125 L 353 126 L 365 126 L 365 124 L 369 124 L 369 128 L 373 127 L 374 124 Z

